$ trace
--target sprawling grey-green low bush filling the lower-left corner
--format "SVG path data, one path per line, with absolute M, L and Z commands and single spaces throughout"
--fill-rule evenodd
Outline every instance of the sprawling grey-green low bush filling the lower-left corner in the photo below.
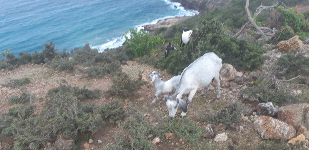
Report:
M 11 135 L 14 149 L 44 148 L 58 134 L 76 136 L 78 132 L 95 133 L 104 125 L 101 106 L 82 105 L 80 98 L 94 98 L 87 89 L 60 86 L 49 90 L 49 99 L 39 114 L 34 106 L 20 106 L 9 110 L 0 119 L 2 135 Z

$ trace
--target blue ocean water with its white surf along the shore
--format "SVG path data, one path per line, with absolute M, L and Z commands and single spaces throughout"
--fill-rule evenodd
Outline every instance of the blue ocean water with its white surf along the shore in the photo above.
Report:
M 0 52 L 41 52 L 50 41 L 59 51 L 102 51 L 121 46 L 130 28 L 197 13 L 167 0 L 1 0 Z

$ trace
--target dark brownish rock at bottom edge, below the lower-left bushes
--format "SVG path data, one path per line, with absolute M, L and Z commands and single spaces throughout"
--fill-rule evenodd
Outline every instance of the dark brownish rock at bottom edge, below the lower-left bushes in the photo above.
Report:
M 58 135 L 55 141 L 55 147 L 63 150 L 70 150 L 75 147 L 75 142 L 70 136 Z

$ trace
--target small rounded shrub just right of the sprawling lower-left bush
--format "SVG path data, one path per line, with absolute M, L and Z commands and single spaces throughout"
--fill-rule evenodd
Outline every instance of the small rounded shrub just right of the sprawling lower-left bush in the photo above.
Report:
M 125 111 L 119 102 L 120 100 L 114 99 L 112 102 L 104 104 L 101 108 L 102 114 L 104 114 L 104 117 L 108 118 L 111 123 L 115 123 L 125 116 Z

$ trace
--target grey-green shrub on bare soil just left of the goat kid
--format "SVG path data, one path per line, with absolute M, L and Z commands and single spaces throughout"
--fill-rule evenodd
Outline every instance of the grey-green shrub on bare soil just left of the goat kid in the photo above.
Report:
M 107 97 L 117 96 L 120 98 L 128 98 L 134 96 L 135 92 L 146 84 L 145 81 L 138 79 L 133 80 L 127 74 L 118 73 L 112 79 L 111 88 L 105 92 Z

